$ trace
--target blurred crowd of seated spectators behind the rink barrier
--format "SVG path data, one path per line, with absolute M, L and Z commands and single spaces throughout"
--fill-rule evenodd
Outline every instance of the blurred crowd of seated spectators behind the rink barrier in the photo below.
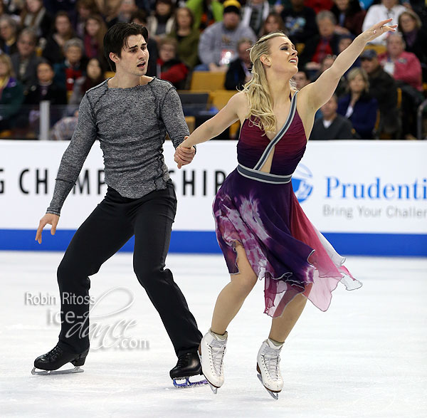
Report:
M 266 33 L 283 31 L 295 44 L 303 88 L 390 17 L 398 31 L 376 38 L 343 76 L 312 139 L 415 139 L 427 83 L 425 1 L 0 0 L 0 135 L 34 125 L 41 100 L 65 109 L 52 123 L 73 127 L 81 98 L 110 70 L 102 38 L 117 22 L 147 26 L 147 75 L 185 90 L 194 71 L 223 72 L 223 88 L 237 90 L 251 79 L 248 49 Z

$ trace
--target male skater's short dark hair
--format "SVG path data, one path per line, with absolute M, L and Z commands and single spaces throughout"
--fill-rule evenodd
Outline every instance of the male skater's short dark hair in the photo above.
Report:
M 132 35 L 142 35 L 148 41 L 148 31 L 145 26 L 137 23 L 116 23 L 108 29 L 104 36 L 104 55 L 112 71 L 115 71 L 115 63 L 110 60 L 110 52 L 122 55 L 122 49 L 126 46 L 127 38 Z

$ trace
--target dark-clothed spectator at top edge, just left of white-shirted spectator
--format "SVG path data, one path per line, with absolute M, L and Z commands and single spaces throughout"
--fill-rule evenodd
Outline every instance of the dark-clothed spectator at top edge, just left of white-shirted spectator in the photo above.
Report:
M 354 36 L 362 33 L 362 24 L 367 12 L 362 10 L 359 0 L 334 0 L 331 11 L 337 19 L 335 33 L 339 35 L 352 33 Z

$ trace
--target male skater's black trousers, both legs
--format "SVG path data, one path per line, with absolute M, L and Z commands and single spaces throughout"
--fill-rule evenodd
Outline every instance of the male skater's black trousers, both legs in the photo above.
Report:
M 89 348 L 88 276 L 135 235 L 134 271 L 159 312 L 176 355 L 196 352 L 201 340 L 196 320 L 172 272 L 164 269 L 175 213 L 170 180 L 167 189 L 140 199 L 127 199 L 108 187 L 105 199 L 75 232 L 58 267 L 62 348 L 78 353 Z

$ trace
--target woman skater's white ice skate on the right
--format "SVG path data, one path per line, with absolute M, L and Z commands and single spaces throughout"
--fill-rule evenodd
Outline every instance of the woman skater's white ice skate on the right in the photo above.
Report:
M 279 392 L 283 389 L 283 379 L 280 375 L 280 350 L 282 347 L 283 344 L 277 346 L 270 339 L 265 340 L 256 359 L 258 379 L 276 400 L 279 399 Z

